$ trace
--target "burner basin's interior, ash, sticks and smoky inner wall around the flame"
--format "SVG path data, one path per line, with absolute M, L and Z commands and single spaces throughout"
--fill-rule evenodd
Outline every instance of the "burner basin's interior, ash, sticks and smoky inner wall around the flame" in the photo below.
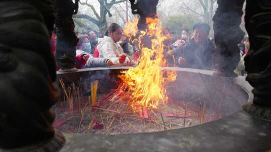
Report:
M 230 80 L 213 76 L 201 78 L 198 73 L 178 71 L 178 80 L 166 85 L 168 101 L 160 102 L 157 108 L 145 107 L 148 111 L 148 118 L 145 118 L 147 114 L 144 113 L 144 106 L 137 106 L 139 111 L 142 110 L 142 115 L 134 112 L 130 105 L 130 92 L 119 91 L 120 81 L 115 79 L 117 73 L 119 69 L 111 70 L 112 77 L 108 77 L 107 74 L 100 74 L 100 71 L 93 71 L 85 75 L 83 81 L 66 83 L 66 86 L 64 81 L 60 80 L 64 97 L 53 108 L 56 113 L 54 127 L 68 133 L 98 134 L 176 129 L 232 114 L 238 111 L 240 103 L 245 103 L 248 98 L 241 97 L 241 88 L 229 83 Z M 89 76 L 95 74 L 98 75 L 94 76 L 95 79 L 89 79 Z M 95 91 L 95 88 L 92 90 L 91 84 L 96 77 L 100 78 L 96 92 L 97 102 L 92 106 L 94 99 L 90 92 Z

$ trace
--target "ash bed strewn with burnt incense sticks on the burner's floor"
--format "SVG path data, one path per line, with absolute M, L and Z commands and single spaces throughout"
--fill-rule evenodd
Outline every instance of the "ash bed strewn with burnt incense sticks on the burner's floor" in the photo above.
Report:
M 210 99 L 208 95 L 180 90 L 174 82 L 167 87 L 169 91 L 167 103 L 160 102 L 158 108 L 149 108 L 148 113 L 147 110 L 144 111 L 145 106 L 137 106 L 142 112 L 134 112 L 130 106 L 130 92 L 108 89 L 104 81 L 98 84 L 96 105 L 91 105 L 94 100 L 91 94 L 83 95 L 86 92 L 81 82 L 75 82 L 70 86 L 65 86 L 62 80 L 60 82 L 63 84 L 65 97 L 64 101 L 53 108 L 56 113 L 54 127 L 67 133 L 123 134 L 182 128 L 225 116 L 223 109 L 225 103 L 228 104 L 223 98 L 228 97 L 226 95 L 221 97 L 220 93 L 217 93 L 219 95 L 214 96 L 214 101 L 220 100 L 219 102 L 206 102 Z M 93 83 L 89 88 L 93 89 Z M 93 93 L 95 88 L 87 91 Z M 237 103 L 233 98 L 229 98 L 229 101 Z M 218 108 L 220 105 L 221 108 Z

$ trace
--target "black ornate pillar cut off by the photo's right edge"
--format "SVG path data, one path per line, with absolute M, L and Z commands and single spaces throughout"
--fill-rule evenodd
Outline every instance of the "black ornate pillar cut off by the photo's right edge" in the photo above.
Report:
M 250 48 L 245 56 L 246 80 L 254 87 L 253 104 L 243 109 L 255 116 L 271 120 L 271 1 L 247 0 L 245 27 Z

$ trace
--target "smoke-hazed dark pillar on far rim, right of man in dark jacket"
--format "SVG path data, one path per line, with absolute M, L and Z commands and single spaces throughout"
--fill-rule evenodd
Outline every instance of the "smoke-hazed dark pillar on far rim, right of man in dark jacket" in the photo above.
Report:
M 244 36 L 239 27 L 244 0 L 217 0 L 217 3 L 218 8 L 213 17 L 217 46 L 215 60 L 218 62 L 220 73 L 224 76 L 234 76 L 233 70 L 240 60 L 240 49 L 237 44 Z

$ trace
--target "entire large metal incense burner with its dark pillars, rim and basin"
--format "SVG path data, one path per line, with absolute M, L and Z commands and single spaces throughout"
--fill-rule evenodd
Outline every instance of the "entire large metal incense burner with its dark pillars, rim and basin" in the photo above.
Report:
M 152 31 L 147 21 L 157 20 L 159 0 L 129 1 L 132 13 L 140 16 L 138 29 Z M 213 27 L 218 71 L 163 67 L 165 77 L 170 79 L 171 70 L 177 72 L 177 79 L 152 87 L 163 95 L 150 91 L 140 92 L 143 97 L 135 95 L 145 99 L 146 94 L 158 94 L 148 100 L 148 106 L 141 99 L 132 100 L 131 92 L 142 86 L 146 90 L 152 81 L 133 85 L 130 79 L 119 85 L 123 82 L 118 78 L 120 71 L 133 71 L 133 67 L 56 74 L 49 43 L 54 24 L 57 64 L 76 70 L 72 15 L 79 0 L 1 0 L 0 151 L 270 152 L 271 1 L 246 0 L 250 48 L 244 58 L 247 76 L 242 77 L 233 69 L 240 57 L 237 44 L 244 35 L 239 27 L 244 1 L 217 0 Z M 144 47 L 150 49 L 150 38 L 145 38 Z M 156 65 L 138 75 L 162 73 L 163 64 Z M 155 80 L 164 82 L 161 75 L 161 79 L 155 75 Z M 114 94 L 117 86 L 123 87 Z

